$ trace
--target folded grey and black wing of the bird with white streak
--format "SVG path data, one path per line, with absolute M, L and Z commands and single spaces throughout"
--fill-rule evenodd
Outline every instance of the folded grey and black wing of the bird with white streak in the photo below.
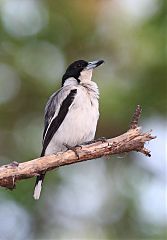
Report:
M 41 156 L 44 156 L 48 144 L 65 119 L 76 93 L 77 89 L 72 89 L 70 92 L 68 92 L 63 101 L 61 101 L 63 96 L 61 90 L 51 96 L 45 109 L 45 129 L 43 134 L 43 149 Z M 61 105 L 58 106 L 58 104 Z M 55 114 L 56 107 L 59 107 L 57 114 Z

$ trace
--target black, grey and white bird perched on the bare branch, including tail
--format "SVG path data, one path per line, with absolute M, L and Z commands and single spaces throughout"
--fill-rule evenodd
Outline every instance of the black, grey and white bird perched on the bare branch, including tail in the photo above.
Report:
M 67 67 L 61 88 L 45 106 L 41 157 L 94 139 L 99 119 L 99 89 L 92 81 L 92 73 L 103 63 L 103 60 L 77 60 Z M 42 172 L 36 178 L 35 200 L 40 197 L 45 174 Z

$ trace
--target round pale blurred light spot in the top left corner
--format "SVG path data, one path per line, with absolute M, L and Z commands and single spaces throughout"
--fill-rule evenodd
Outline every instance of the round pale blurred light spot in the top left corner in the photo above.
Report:
M 48 13 L 42 1 L 4 0 L 1 18 L 6 31 L 15 37 L 37 34 L 48 23 Z

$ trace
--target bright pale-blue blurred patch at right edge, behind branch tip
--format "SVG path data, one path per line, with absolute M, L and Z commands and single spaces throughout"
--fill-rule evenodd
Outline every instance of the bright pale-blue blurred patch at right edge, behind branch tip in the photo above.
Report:
M 163 118 L 154 118 L 141 123 L 144 131 L 153 129 L 152 135 L 157 138 L 146 145 L 151 150 L 151 157 L 146 158 L 137 154 L 139 165 L 149 170 L 154 178 L 147 183 L 141 183 L 140 191 L 140 214 L 148 222 L 165 224 L 167 217 L 167 122 Z

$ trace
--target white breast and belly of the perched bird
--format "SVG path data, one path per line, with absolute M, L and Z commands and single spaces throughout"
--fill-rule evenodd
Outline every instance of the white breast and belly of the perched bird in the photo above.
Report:
M 99 118 L 96 83 L 78 85 L 77 94 L 59 129 L 49 143 L 45 155 L 63 151 L 63 144 L 75 146 L 94 139 Z

